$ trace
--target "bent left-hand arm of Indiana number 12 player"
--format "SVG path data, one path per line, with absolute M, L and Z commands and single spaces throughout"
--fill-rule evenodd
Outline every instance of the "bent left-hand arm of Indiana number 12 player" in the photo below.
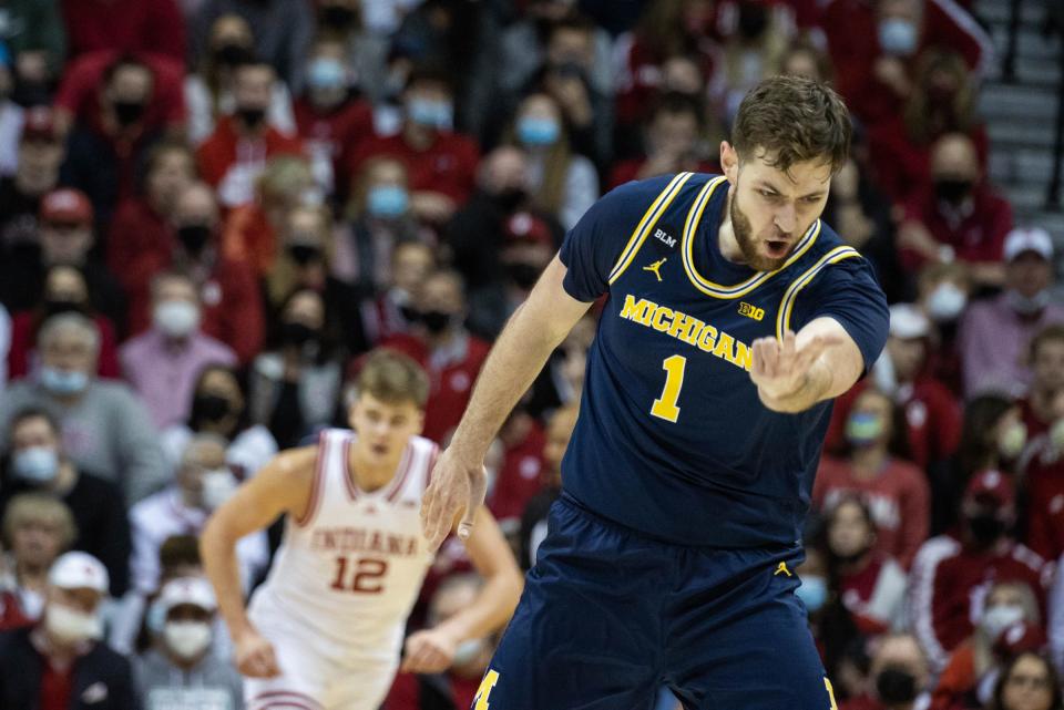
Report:
M 200 537 L 200 556 L 233 638 L 237 668 L 245 676 L 269 678 L 279 669 L 273 647 L 244 609 L 236 543 L 268 527 L 284 513 L 299 516 L 306 511 L 316 455 L 316 449 L 307 446 L 275 456 L 214 512 Z

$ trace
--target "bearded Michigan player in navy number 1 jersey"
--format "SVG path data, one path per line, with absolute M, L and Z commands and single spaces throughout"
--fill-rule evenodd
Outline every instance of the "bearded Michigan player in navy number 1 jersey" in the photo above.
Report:
M 761 82 L 723 176 L 628 183 L 569 233 L 484 366 L 422 503 L 431 544 L 484 495 L 488 445 L 605 297 L 563 493 L 475 710 L 832 710 L 795 596 L 831 400 L 879 356 L 872 269 L 819 217 L 838 95 Z

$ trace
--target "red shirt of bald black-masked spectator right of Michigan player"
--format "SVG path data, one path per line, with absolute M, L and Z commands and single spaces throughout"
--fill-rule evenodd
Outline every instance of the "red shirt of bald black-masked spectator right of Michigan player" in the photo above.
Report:
M 940 244 L 953 247 L 961 261 L 1001 261 L 1005 236 L 1012 229 L 1012 205 L 986 186 L 972 195 L 970 209 L 955 216 L 945 214 L 930 185 L 915 191 L 906 205 L 906 218 L 923 224 Z M 915 271 L 923 257 L 901 249 L 901 261 Z

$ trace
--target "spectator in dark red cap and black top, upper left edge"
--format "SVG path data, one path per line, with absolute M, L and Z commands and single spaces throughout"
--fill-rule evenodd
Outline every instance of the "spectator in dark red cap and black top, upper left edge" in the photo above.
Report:
M 0 176 L 0 261 L 8 264 L 24 258 L 18 253 L 37 240 L 41 198 L 59 185 L 59 166 L 65 157 L 63 136 L 48 106 L 28 109 L 17 137 L 13 173 Z M 4 300 L 6 291 L 0 289 Z

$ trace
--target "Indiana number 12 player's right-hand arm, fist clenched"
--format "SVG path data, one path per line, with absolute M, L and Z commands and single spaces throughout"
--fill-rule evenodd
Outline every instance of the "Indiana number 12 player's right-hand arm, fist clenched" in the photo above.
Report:
M 459 644 L 498 630 L 518 606 L 524 582 L 510 545 L 484 506 L 477 511 L 474 527 L 475 532 L 466 541 L 466 550 L 484 585 L 473 604 L 431 629 L 410 635 L 402 662 L 405 671 L 446 670 Z

